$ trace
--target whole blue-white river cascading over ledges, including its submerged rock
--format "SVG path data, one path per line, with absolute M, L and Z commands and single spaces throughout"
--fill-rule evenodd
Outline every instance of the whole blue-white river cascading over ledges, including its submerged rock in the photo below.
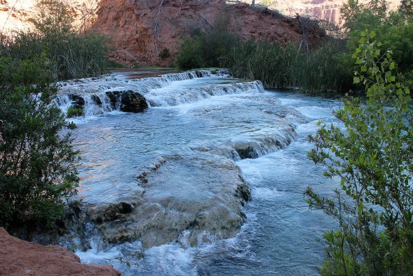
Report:
M 108 92 L 126 90 L 149 108 L 117 111 Z M 90 222 L 71 245 L 82 261 L 123 275 L 317 273 L 316 238 L 331 222 L 308 212 L 302 193 L 336 183 L 306 159 L 305 136 L 334 120 L 337 100 L 208 70 L 60 83 L 62 110 L 78 97 L 78 194 Z

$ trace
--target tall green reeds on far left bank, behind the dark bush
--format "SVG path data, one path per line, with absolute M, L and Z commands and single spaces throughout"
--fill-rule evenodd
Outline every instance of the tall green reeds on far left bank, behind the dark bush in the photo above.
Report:
M 16 32 L 2 35 L 0 55 L 31 59 L 46 55 L 52 64 L 55 79 L 95 76 L 106 72 L 107 39 L 90 33 Z

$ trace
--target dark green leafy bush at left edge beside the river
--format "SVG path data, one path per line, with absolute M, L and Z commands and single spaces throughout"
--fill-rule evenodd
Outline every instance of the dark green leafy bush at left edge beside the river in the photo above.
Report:
M 0 225 L 53 227 L 76 194 L 74 125 L 52 104 L 50 61 L 0 57 Z

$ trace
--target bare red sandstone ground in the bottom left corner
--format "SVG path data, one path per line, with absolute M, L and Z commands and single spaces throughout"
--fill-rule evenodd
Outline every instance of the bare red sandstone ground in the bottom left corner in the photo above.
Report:
M 58 245 L 37 245 L 10 236 L 0 227 L 1 276 L 119 276 L 110 266 L 85 265 Z

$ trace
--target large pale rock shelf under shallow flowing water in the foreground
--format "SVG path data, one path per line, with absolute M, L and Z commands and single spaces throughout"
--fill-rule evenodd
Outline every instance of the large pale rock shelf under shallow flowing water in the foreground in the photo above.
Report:
M 90 218 L 103 241 L 139 240 L 147 248 L 174 241 L 194 246 L 235 236 L 246 220 L 242 206 L 251 193 L 235 163 L 205 155 L 168 156 L 139 174 L 141 193 L 120 203 L 91 206 Z

